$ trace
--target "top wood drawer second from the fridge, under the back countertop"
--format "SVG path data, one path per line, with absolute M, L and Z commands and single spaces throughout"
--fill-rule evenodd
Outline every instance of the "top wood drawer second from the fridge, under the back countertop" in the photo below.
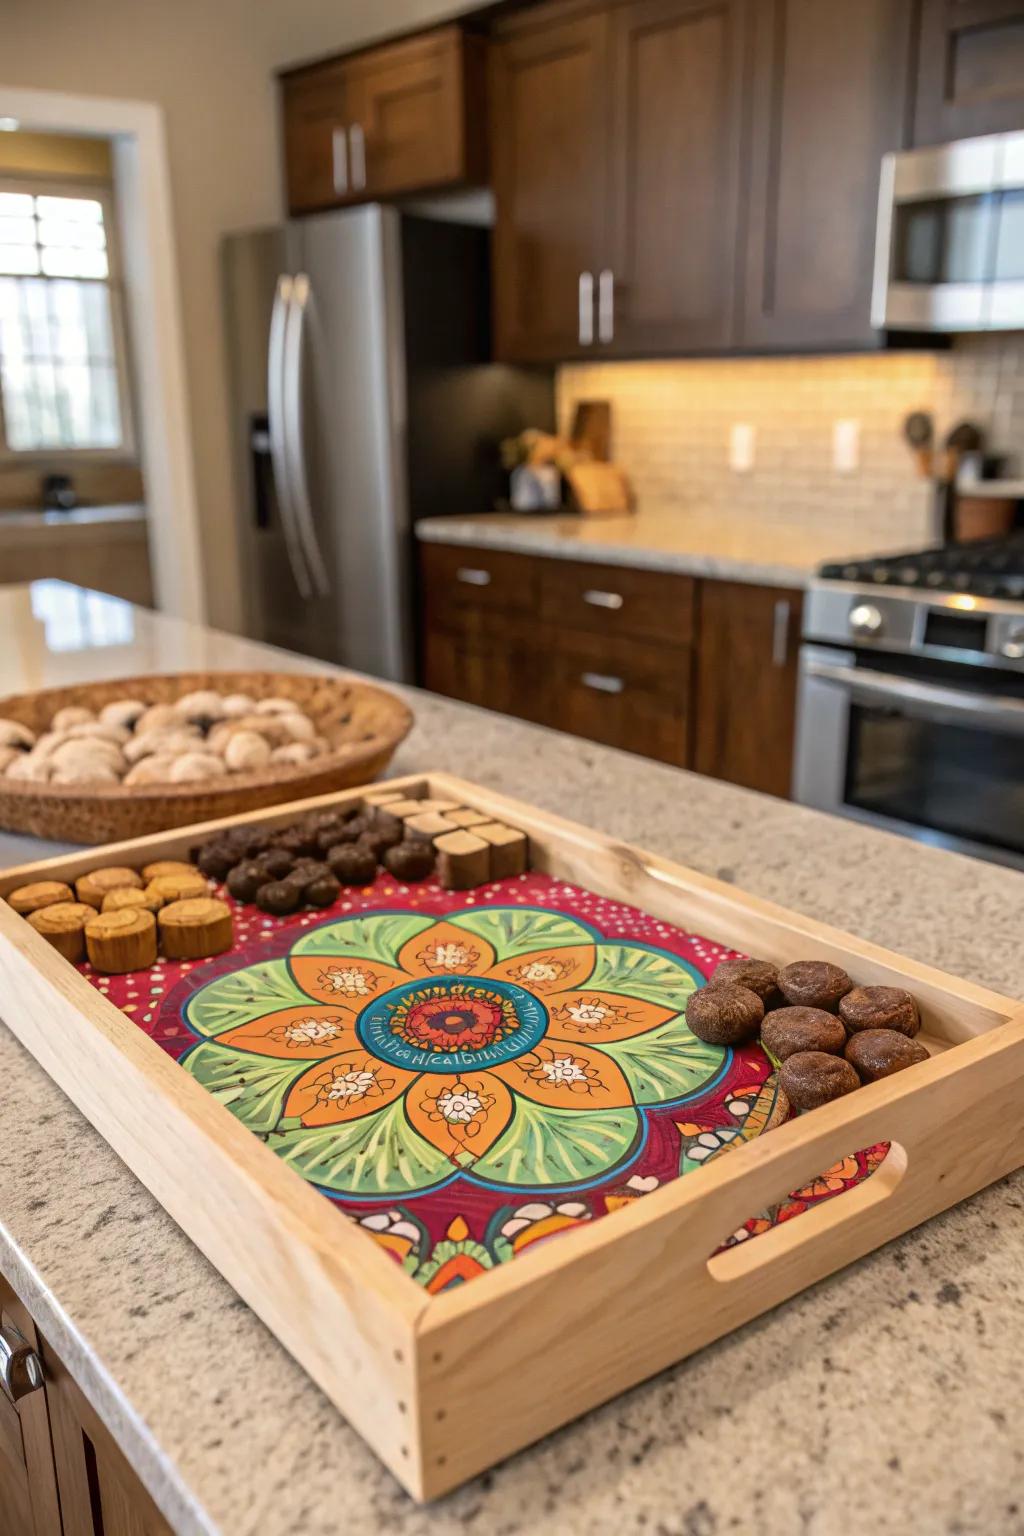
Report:
M 585 561 L 543 561 L 540 613 L 550 624 L 597 634 L 689 645 L 694 582 L 689 576 Z

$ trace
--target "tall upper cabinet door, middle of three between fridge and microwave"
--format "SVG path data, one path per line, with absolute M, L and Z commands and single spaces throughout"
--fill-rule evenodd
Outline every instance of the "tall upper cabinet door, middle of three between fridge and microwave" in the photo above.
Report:
M 611 350 L 731 341 L 743 15 L 740 0 L 640 0 L 613 12 Z

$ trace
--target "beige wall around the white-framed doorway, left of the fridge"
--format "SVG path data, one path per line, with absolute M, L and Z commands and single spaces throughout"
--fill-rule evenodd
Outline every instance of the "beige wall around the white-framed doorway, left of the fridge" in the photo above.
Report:
M 8 0 L 0 86 L 157 101 L 167 120 L 210 621 L 239 617 L 218 244 L 281 217 L 273 69 L 470 9 L 444 0 Z M 2 111 L 2 106 L 0 106 Z

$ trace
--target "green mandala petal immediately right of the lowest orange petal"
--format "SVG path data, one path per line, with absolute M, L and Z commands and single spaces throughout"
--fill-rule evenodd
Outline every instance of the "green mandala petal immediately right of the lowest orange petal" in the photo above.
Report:
M 511 1124 L 473 1174 L 520 1189 L 576 1184 L 611 1172 L 639 1134 L 636 1109 L 556 1109 L 516 1095 Z

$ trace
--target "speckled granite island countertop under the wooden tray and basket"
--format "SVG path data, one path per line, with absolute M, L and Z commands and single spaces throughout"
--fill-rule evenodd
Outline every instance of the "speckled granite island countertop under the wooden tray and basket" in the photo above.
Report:
M 48 601 L 0 591 L 0 687 L 18 657 L 40 685 L 313 665 L 138 610 L 126 637 L 95 598 L 69 650 L 84 599 Z M 402 691 L 395 774 L 456 771 L 1024 997 L 1016 872 Z M 0 1080 L 0 1269 L 181 1536 L 1024 1531 L 1024 1174 L 419 1508 L 3 1028 Z

